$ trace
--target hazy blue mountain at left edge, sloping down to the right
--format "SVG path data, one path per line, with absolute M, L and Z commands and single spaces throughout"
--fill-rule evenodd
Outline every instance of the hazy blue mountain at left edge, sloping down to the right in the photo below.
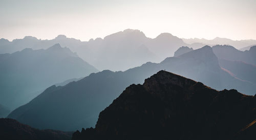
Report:
M 0 54 L 0 103 L 10 108 L 28 103 L 47 87 L 98 70 L 68 48 L 24 49 Z

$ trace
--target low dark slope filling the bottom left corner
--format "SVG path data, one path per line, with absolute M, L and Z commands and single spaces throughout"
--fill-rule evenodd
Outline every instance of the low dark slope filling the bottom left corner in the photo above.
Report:
M 71 139 L 71 135 L 72 132 L 39 130 L 13 119 L 0 119 L 0 138 L 5 140 L 68 140 Z

